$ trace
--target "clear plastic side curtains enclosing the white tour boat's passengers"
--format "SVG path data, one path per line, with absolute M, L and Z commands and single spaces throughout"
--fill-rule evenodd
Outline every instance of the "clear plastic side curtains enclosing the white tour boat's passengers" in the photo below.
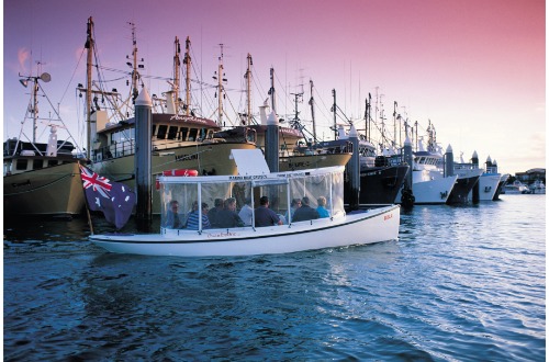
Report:
M 198 231 L 256 226 L 255 210 L 260 207 L 262 196 L 268 197 L 268 207 L 285 225 L 292 223 L 296 201 L 305 197 L 312 208 L 324 206 L 327 217 L 343 216 L 343 168 L 334 169 L 333 172 L 293 171 L 258 179 L 238 176 L 166 178 L 170 181 L 160 181 L 161 226 Z M 184 179 L 184 182 L 177 182 L 177 179 Z M 322 214 L 326 217 L 326 213 Z

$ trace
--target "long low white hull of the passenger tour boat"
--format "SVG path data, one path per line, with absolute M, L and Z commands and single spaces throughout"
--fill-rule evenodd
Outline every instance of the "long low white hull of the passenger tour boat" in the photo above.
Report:
M 117 253 L 225 257 L 288 253 L 366 245 L 399 237 L 400 206 L 272 227 L 192 230 L 152 235 L 94 235 L 93 244 Z

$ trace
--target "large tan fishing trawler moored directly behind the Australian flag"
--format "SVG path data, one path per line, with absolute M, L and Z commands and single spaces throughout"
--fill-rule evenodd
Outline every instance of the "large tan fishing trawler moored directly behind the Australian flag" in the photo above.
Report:
M 134 97 L 138 93 L 142 65 L 137 56 L 137 41 L 133 29 L 133 52 L 128 65 L 133 71 L 130 97 L 120 101 L 121 95 L 115 90 L 105 91 L 100 83 L 92 86 L 92 54 L 94 50 L 93 21 L 88 21 L 88 76 L 87 86 L 80 84 L 78 90 L 86 94 L 88 110 L 88 150 L 91 169 L 112 181 L 124 182 L 130 188 L 135 186 L 135 117 Z M 227 140 L 215 136 L 222 129 L 221 121 L 199 116 L 190 105 L 190 39 L 187 38 L 183 64 L 187 66 L 186 102 L 179 99 L 180 44 L 178 37 L 173 42 L 175 79 L 171 89 L 163 97 L 153 95 L 152 129 L 152 178 L 156 178 L 170 169 L 195 169 L 200 174 L 236 174 L 236 165 L 231 159 L 232 149 L 255 149 L 255 133 L 245 129 L 243 137 Z M 221 76 L 220 76 L 221 78 Z M 92 87 L 99 88 L 94 90 Z M 220 88 L 220 97 L 222 89 Z M 92 95 L 107 99 L 110 112 L 107 112 Z M 221 102 L 220 102 L 221 104 Z M 223 110 L 220 110 L 223 114 Z M 155 190 L 153 195 L 153 213 L 160 213 L 160 196 Z

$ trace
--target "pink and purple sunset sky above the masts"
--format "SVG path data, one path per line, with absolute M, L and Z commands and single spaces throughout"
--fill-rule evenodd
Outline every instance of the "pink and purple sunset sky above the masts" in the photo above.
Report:
M 397 111 L 423 128 L 430 120 L 437 140 L 444 148 L 451 144 L 458 159 L 477 150 L 481 162 L 491 156 L 504 172 L 545 168 L 544 0 L 19 0 L 3 5 L 4 138 L 19 133 L 29 99 L 18 75 L 29 75 L 31 60 L 33 73 L 41 60 L 52 75 L 48 95 L 77 129 L 82 110 L 75 89 L 85 82 L 83 63 L 75 69 L 87 19 L 93 16 L 103 66 L 126 70 L 127 22 L 134 22 L 146 75 L 171 77 L 173 38 L 190 36 L 193 61 L 210 82 L 223 43 L 229 89 L 242 89 L 246 55 L 254 57 L 260 84 L 255 112 L 267 97 L 270 67 L 282 84 L 277 86 L 287 88 L 277 88 L 279 113 L 292 112 L 283 94 L 296 92 L 300 83 L 309 99 L 312 79 L 320 94 L 317 122 L 326 125 L 332 89 L 347 116 L 359 118 L 365 98 L 379 87 L 389 118 L 396 101 Z M 145 83 L 153 93 L 167 90 L 165 81 Z M 244 111 L 240 93 L 228 97 Z M 306 101 L 300 109 L 306 120 Z

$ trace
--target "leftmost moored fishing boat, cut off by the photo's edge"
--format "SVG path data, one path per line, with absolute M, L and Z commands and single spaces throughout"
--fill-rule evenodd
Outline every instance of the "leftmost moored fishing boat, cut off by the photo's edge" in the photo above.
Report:
M 47 117 L 41 116 L 38 112 L 38 97 L 49 102 L 41 82 L 49 82 L 51 79 L 49 73 L 43 72 L 40 77 L 20 80 L 25 88 L 32 84 L 31 102 L 19 137 L 3 143 L 5 216 L 71 216 L 83 208 L 78 168 L 78 155 L 81 154 L 76 149 L 76 142 L 55 108 L 52 106 Z M 31 121 L 32 135 L 26 134 Z M 40 142 L 37 133 L 46 132 L 47 142 Z M 66 139 L 58 139 L 58 132 L 66 134 Z

